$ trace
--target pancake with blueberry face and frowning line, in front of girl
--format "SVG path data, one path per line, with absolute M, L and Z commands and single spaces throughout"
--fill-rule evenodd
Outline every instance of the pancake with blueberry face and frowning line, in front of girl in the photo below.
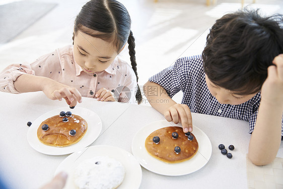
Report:
M 44 120 L 37 129 L 40 142 L 48 146 L 64 147 L 79 142 L 88 129 L 88 123 L 79 115 L 61 111 Z

